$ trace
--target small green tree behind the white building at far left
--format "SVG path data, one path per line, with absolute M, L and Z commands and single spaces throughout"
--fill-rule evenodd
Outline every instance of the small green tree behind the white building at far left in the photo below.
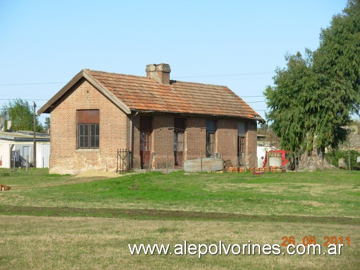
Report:
M 29 105 L 27 100 L 16 98 L 10 100 L 8 104 L 3 105 L 3 111 L 8 111 L 11 119 L 12 130 L 33 130 L 33 107 Z M 43 130 L 43 126 L 36 116 L 36 131 Z

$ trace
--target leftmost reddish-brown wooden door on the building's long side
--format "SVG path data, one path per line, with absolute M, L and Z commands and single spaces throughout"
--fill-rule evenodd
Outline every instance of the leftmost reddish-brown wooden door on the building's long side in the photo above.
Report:
M 151 116 L 140 116 L 140 166 L 149 168 L 151 156 Z

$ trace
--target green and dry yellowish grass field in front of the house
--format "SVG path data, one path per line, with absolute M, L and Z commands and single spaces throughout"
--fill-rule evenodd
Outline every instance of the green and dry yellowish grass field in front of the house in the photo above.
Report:
M 0 268 L 358 268 L 360 172 L 112 179 L 0 170 Z M 131 255 L 128 244 L 349 237 L 341 255 Z M 344 243 L 345 244 L 345 243 Z M 347 243 L 346 243 L 347 244 Z M 170 247 L 170 249 L 171 249 Z M 281 248 L 284 251 L 285 247 Z M 172 251 L 174 248 L 171 249 Z

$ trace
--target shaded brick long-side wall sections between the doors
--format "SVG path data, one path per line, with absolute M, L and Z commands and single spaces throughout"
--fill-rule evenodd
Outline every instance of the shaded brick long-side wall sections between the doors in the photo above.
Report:
M 153 168 L 163 168 L 166 166 L 166 154 L 169 154 L 169 168 L 174 167 L 173 155 L 173 130 L 168 127 L 174 126 L 173 114 L 153 114 L 153 132 L 152 152 L 154 152 Z M 134 160 L 135 169 L 140 168 L 140 137 L 139 137 L 139 119 L 136 116 L 133 119 L 134 127 Z M 186 131 L 184 133 L 185 160 L 205 157 L 206 148 L 206 119 L 210 117 L 190 116 L 186 118 Z M 221 153 L 224 159 L 230 159 L 234 165 L 237 165 L 237 123 L 238 119 L 224 118 L 217 119 L 217 131 L 215 133 L 215 152 Z M 257 165 L 257 125 L 256 121 L 246 122 L 246 145 L 245 156 L 246 163 L 250 167 Z M 249 158 L 249 154 L 251 154 Z

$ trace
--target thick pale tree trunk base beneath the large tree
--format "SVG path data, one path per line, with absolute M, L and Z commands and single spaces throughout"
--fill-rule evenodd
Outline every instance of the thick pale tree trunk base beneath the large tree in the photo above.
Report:
M 325 149 L 313 149 L 310 153 L 304 153 L 301 155 L 299 170 L 314 171 L 322 168 L 335 168 L 335 166 L 326 161 Z

